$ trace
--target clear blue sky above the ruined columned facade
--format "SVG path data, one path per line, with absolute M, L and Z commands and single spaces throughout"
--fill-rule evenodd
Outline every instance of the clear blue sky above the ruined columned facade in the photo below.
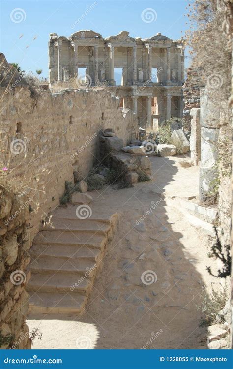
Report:
M 69 36 L 91 29 L 103 37 L 129 31 L 132 37 L 146 38 L 161 32 L 178 39 L 185 30 L 186 5 L 187 0 L 0 0 L 0 51 L 8 62 L 26 71 L 41 68 L 48 77 L 49 33 Z M 148 8 L 145 22 L 142 12 Z

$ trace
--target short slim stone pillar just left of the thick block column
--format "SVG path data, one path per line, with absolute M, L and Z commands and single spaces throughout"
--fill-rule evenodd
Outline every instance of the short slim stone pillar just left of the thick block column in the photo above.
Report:
M 190 136 L 190 158 L 193 165 L 197 166 L 201 158 L 201 125 L 200 109 L 192 108 L 190 110 L 191 136 Z

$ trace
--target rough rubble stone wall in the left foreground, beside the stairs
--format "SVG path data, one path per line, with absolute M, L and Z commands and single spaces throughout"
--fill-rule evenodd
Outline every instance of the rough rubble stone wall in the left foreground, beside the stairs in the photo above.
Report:
M 27 280 L 29 199 L 0 186 L 0 348 L 30 348 Z

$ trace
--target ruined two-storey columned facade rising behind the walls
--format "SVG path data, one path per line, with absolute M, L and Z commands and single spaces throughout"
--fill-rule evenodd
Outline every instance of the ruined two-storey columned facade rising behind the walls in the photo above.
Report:
M 69 38 L 51 33 L 50 83 L 84 76 L 89 85 L 111 86 L 120 106 L 133 110 L 141 126 L 156 128 L 183 114 L 183 42 L 161 33 L 146 39 L 126 31 L 107 38 L 90 30 Z

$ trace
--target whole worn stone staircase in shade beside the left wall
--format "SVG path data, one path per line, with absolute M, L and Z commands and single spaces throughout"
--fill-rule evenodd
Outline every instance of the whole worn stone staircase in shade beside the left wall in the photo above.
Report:
M 77 205 L 59 208 L 30 250 L 29 312 L 82 313 L 87 304 L 117 214 L 80 219 Z M 98 212 L 99 213 L 99 212 Z

